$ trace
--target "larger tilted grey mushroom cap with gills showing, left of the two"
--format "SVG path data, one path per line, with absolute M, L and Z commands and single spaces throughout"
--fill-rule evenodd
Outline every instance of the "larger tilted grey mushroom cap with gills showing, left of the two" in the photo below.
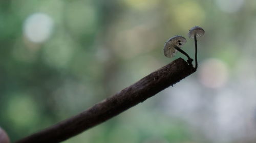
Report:
M 177 50 L 175 46 L 181 48 L 187 42 L 186 38 L 182 36 L 174 36 L 167 40 L 164 44 L 163 53 L 167 58 L 172 58 L 176 55 Z

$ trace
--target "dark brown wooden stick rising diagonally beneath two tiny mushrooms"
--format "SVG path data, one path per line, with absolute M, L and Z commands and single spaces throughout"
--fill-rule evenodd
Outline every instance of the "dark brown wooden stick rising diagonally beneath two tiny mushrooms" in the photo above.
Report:
M 194 72 L 192 65 L 179 58 L 79 115 L 20 139 L 16 143 L 50 143 L 66 140 L 145 101 Z

